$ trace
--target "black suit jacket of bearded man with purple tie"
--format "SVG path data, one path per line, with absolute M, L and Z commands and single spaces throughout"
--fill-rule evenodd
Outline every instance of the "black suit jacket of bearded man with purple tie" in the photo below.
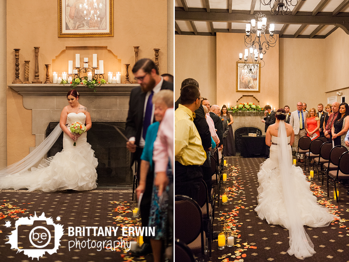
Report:
M 163 81 L 161 90 L 170 89 L 173 91 L 173 83 Z M 141 132 L 143 126 L 143 111 L 144 111 L 144 102 L 146 100 L 146 93 L 142 92 L 140 86 L 135 87 L 131 90 L 128 115 L 126 119 L 126 137 L 135 137 L 135 145 L 139 146 L 139 141 L 141 139 Z M 142 148 L 137 147 L 136 152 L 133 154 L 132 163 L 134 160 L 139 160 L 142 154 Z

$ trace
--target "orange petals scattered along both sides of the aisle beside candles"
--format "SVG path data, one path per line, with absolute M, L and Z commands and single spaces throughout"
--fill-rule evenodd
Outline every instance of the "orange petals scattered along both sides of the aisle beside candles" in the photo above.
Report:
M 235 206 L 234 206 L 234 209 L 232 209 L 229 212 L 219 211 L 220 214 L 216 219 L 218 221 L 225 222 L 225 227 L 227 232 L 234 232 L 235 241 L 236 241 L 236 245 L 234 247 L 237 247 L 237 249 L 234 252 L 230 252 L 228 254 L 224 254 L 218 257 L 218 259 L 221 262 L 243 262 L 244 258 L 247 256 L 246 253 L 248 252 L 248 248 L 257 249 L 256 246 L 253 246 L 255 245 L 255 243 L 250 243 L 250 245 L 248 245 L 247 242 L 240 244 L 240 242 L 242 242 L 241 239 L 243 238 L 243 232 L 240 232 L 240 230 L 238 230 L 237 227 L 241 227 L 243 223 L 238 223 L 238 219 L 234 217 L 238 216 L 239 209 L 249 209 L 250 212 L 254 212 L 254 208 L 253 206 L 247 207 L 243 205 L 243 204 L 246 204 L 243 202 L 246 200 L 245 196 L 240 196 L 240 198 L 243 198 L 242 200 L 231 202 L 233 200 L 233 197 L 238 197 L 241 194 L 241 192 L 245 193 L 243 190 L 244 187 L 239 184 L 239 182 L 245 182 L 245 180 L 234 180 L 234 177 L 238 175 L 239 171 L 240 171 L 240 167 L 238 165 L 236 166 L 230 165 L 228 168 L 225 167 L 225 172 L 227 173 L 227 183 L 225 184 L 222 183 L 221 185 L 221 192 L 224 191 L 224 188 L 226 188 L 228 203 L 235 204 Z M 248 171 L 246 170 L 245 172 L 248 172 Z M 228 183 L 230 184 L 230 186 L 227 187 Z M 313 195 L 316 197 L 327 197 L 327 193 L 321 190 L 321 187 L 314 182 L 311 183 L 310 189 L 313 192 Z M 219 201 L 220 201 L 220 208 L 222 207 L 222 209 L 224 209 L 225 206 L 221 206 L 222 195 L 220 195 Z M 331 223 L 331 225 L 333 226 L 338 225 L 339 230 L 340 228 L 343 228 L 343 231 L 344 231 L 344 228 L 348 230 L 349 228 L 344 223 L 348 222 L 349 220 L 340 218 L 341 211 L 344 211 L 344 210 L 343 209 L 338 210 L 338 205 L 332 204 L 331 203 L 332 201 L 334 200 L 329 198 L 321 198 L 318 200 L 318 203 L 325 206 L 326 208 L 329 208 L 332 211 L 331 212 L 332 214 L 339 217 L 335 219 L 333 223 Z M 225 210 L 228 210 L 228 209 L 225 208 Z M 347 209 L 346 212 L 349 212 L 349 209 Z M 217 224 L 214 224 L 214 226 L 215 225 Z M 339 233 L 342 234 L 343 232 L 339 231 Z M 349 236 L 349 234 L 346 234 L 346 235 Z M 343 236 L 343 235 L 339 235 L 339 236 Z M 214 240 L 214 241 L 217 242 L 218 240 Z M 214 250 L 212 249 L 212 251 Z M 212 258 L 212 261 L 216 261 L 216 260 Z

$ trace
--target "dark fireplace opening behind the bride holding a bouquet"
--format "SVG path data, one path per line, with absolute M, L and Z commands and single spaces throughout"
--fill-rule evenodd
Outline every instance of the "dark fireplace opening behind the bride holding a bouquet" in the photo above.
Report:
M 51 122 L 46 129 L 46 137 L 57 126 Z M 132 183 L 131 153 L 126 148 L 126 140 L 116 130 L 117 127 L 125 134 L 125 122 L 92 122 L 87 133 L 87 142 L 95 151 L 98 159 L 98 185 L 129 185 Z M 63 149 L 63 132 L 47 152 L 51 157 Z

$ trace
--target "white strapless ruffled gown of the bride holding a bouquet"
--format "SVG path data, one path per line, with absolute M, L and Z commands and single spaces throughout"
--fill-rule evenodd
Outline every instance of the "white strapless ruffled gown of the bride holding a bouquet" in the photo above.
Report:
M 85 123 L 86 115 L 69 113 L 67 124 Z M 63 135 L 63 150 L 48 158 L 38 168 L 31 168 L 13 175 L 0 177 L 0 189 L 21 189 L 29 191 L 57 191 L 65 189 L 91 190 L 97 187 L 97 158 L 94 150 L 87 143 L 86 132 L 76 141 L 66 134 Z

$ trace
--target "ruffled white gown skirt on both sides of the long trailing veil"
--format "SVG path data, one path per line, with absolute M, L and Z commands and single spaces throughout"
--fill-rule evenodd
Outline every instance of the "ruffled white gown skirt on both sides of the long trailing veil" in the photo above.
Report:
M 289 154 L 291 161 L 291 147 Z M 295 201 L 298 202 L 298 210 L 303 225 L 309 227 L 328 226 L 334 220 L 334 215 L 328 213 L 328 209 L 318 205 L 317 198 L 310 191 L 310 183 L 305 180 L 302 169 L 295 166 L 291 168 L 297 185 Z M 270 158 L 260 165 L 258 205 L 255 211 L 260 219 L 266 219 L 269 224 L 288 228 L 288 216 L 279 173 L 277 146 L 272 145 L 270 147 Z

